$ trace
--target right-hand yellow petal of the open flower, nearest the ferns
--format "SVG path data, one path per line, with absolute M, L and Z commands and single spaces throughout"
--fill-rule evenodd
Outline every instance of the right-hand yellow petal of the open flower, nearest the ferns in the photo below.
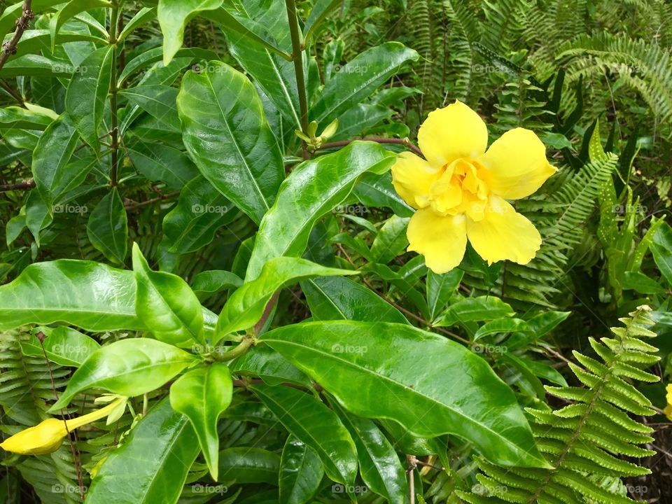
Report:
M 549 165 L 546 147 L 530 130 L 507 131 L 478 158 L 479 171 L 492 193 L 518 200 L 535 192 L 558 170 Z

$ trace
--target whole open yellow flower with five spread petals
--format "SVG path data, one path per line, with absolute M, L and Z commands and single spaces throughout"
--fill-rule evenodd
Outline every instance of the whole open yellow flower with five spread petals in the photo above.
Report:
M 408 224 L 408 250 L 423 254 L 436 273 L 461 262 L 467 237 L 489 264 L 530 262 L 541 237 L 506 200 L 531 195 L 557 171 L 540 139 L 516 128 L 486 152 L 485 123 L 456 101 L 429 114 L 418 143 L 426 160 L 405 152 L 392 167 L 395 190 L 417 209 Z

